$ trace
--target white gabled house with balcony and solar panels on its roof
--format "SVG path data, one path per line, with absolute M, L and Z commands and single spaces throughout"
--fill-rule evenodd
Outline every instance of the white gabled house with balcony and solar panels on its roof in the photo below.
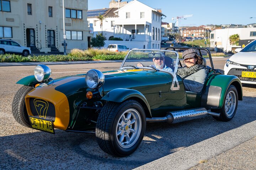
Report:
M 87 12 L 88 21 L 94 24 L 94 34 L 103 32 L 108 44 L 123 44 L 129 48 L 160 49 L 161 44 L 161 20 L 165 16 L 154 8 L 151 8 L 138 0 L 133 0 L 121 8 L 102 9 L 99 14 L 105 15 L 100 27 L 97 16 Z M 109 41 L 113 36 L 123 41 Z

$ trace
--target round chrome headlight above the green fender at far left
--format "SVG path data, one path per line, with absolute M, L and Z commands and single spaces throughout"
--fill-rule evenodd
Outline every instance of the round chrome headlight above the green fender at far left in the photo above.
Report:
M 50 78 L 50 75 L 52 74 L 52 70 L 50 70 L 49 67 L 44 65 L 37 65 L 34 69 L 34 77 L 37 81 L 45 81 Z

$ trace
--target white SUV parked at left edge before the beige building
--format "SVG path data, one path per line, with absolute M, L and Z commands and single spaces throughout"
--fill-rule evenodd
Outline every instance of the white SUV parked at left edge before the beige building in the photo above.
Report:
M 13 40 L 0 39 L 0 55 L 5 53 L 22 54 L 22 56 L 26 57 L 31 54 L 31 50 Z

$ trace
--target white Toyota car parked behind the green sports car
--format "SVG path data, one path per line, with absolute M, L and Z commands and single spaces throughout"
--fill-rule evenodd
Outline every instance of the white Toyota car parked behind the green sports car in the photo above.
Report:
M 238 53 L 226 61 L 225 74 L 236 75 L 241 83 L 256 84 L 256 40 L 235 51 Z

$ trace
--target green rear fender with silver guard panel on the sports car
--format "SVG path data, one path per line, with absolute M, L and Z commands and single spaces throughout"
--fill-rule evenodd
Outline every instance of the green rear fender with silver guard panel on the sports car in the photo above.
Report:
M 214 74 L 207 82 L 202 92 L 201 106 L 206 109 L 220 109 L 223 107 L 226 91 L 234 85 L 238 91 L 238 100 L 242 100 L 242 84 L 234 75 Z

